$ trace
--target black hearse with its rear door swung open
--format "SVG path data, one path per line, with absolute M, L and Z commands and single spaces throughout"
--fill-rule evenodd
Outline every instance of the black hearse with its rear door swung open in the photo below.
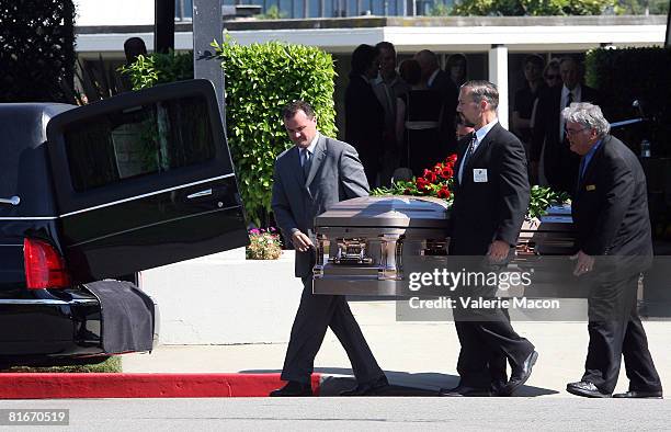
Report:
M 0 104 L 0 367 L 150 350 L 124 275 L 248 242 L 209 81 Z

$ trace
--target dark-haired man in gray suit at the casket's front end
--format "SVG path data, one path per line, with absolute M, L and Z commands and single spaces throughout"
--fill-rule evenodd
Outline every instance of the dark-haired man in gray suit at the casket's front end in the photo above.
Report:
M 295 147 L 275 161 L 272 207 L 285 238 L 296 249 L 296 277 L 303 280 L 300 306 L 294 319 L 282 368 L 288 382 L 271 396 L 311 396 L 310 375 L 327 327 L 342 343 L 359 383 L 342 396 L 374 395 L 387 386 L 344 296 L 314 295 L 315 246 L 309 237 L 315 217 L 333 204 L 368 194 L 368 183 L 354 147 L 317 132 L 312 107 L 303 101 L 283 112 L 284 127 Z

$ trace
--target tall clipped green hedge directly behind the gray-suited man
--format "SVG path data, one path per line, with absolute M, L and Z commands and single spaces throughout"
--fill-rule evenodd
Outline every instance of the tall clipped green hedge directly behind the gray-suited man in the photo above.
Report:
M 228 145 L 249 217 L 268 226 L 275 157 L 292 146 L 282 109 L 295 100 L 309 102 L 319 130 L 336 136 L 330 54 L 282 43 L 241 46 L 213 43 L 226 75 Z

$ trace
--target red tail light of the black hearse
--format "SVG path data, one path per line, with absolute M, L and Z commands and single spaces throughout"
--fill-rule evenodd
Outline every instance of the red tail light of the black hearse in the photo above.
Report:
M 29 289 L 65 288 L 70 285 L 65 260 L 46 241 L 24 239 L 23 261 Z

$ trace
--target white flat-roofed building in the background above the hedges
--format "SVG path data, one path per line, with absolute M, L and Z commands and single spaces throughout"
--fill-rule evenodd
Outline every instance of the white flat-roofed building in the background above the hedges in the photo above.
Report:
M 76 0 L 77 50 L 80 58 L 123 59 L 124 41 L 141 37 L 153 47 L 153 0 Z M 522 83 L 521 64 L 531 53 L 547 56 L 583 53 L 600 46 L 663 45 L 667 16 L 357 16 L 338 19 L 225 23 L 226 33 L 240 44 L 283 41 L 316 45 L 333 54 L 343 88 L 349 54 L 360 44 L 393 43 L 400 57 L 420 49 L 437 54 L 464 53 L 469 78 L 489 79 L 508 105 L 509 87 Z M 223 38 L 223 37 L 221 37 Z M 193 48 L 189 20 L 175 24 L 177 50 Z M 337 104 L 341 104 L 338 91 Z M 500 120 L 508 124 L 508 113 Z

